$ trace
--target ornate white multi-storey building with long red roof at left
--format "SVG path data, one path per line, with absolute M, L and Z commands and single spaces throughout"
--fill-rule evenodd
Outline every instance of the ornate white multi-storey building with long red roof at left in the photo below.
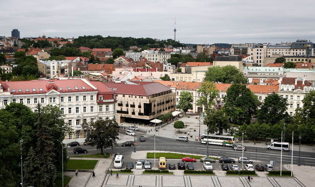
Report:
M 0 81 L 0 109 L 10 103 L 22 103 L 32 111 L 41 106 L 60 105 L 65 123 L 73 129 L 65 140 L 85 138 L 83 123 L 96 118 L 116 119 L 115 91 L 87 79 Z

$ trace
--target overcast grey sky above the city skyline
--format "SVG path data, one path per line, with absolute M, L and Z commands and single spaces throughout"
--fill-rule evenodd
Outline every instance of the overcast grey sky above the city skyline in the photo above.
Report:
M 102 35 L 181 43 L 315 43 L 314 0 L 1 0 L 0 36 Z

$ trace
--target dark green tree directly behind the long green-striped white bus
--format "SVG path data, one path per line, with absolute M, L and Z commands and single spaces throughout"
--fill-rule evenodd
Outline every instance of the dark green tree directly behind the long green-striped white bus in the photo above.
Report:
M 228 117 L 224 115 L 222 110 L 217 110 L 213 113 L 208 112 L 207 116 L 204 118 L 203 124 L 208 126 L 208 132 L 210 134 L 219 132 L 219 135 L 222 135 L 223 132 L 227 132 L 231 127 Z

